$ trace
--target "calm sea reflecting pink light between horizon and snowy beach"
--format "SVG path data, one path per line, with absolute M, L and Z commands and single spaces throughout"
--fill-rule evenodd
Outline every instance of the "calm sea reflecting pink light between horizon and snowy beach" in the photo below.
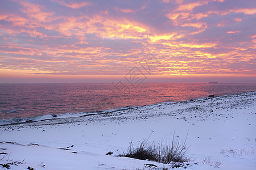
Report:
M 256 91 L 256 83 L 0 84 L 0 120 Z

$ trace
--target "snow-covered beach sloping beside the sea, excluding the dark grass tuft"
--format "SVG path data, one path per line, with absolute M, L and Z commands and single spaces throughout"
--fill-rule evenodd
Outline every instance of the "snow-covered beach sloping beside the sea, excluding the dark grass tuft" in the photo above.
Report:
M 188 134 L 189 162 L 176 169 L 256 169 L 255 101 L 256 91 L 1 125 L 0 168 L 172 169 L 117 155 L 131 141 L 184 142 Z

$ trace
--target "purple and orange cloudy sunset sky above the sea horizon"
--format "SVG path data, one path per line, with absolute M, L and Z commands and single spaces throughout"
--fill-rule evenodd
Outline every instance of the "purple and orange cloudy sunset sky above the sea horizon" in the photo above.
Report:
M 255 0 L 0 1 L 0 83 L 256 81 Z

